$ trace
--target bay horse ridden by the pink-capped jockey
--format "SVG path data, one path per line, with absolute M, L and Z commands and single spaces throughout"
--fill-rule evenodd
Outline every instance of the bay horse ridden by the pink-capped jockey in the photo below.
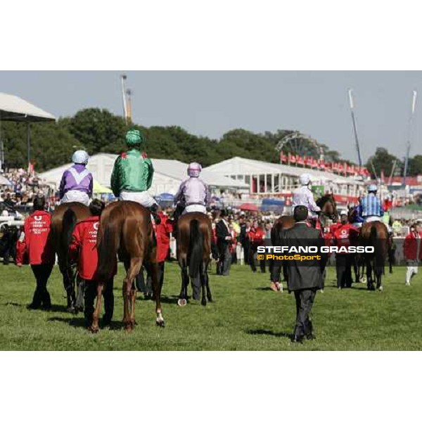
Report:
M 207 305 L 207 300 L 212 302 L 207 273 L 211 261 L 211 233 L 210 219 L 202 212 L 188 212 L 177 219 L 177 260 L 181 268 L 181 290 L 177 302 L 179 306 L 187 303 L 189 277 L 192 281 L 200 278 L 201 305 Z

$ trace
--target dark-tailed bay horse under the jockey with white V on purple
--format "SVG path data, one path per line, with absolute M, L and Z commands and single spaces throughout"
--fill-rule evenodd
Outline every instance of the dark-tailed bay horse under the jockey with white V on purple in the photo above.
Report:
M 82 203 L 58 205 L 51 215 L 51 235 L 58 257 L 58 268 L 63 276 L 63 286 L 68 298 L 68 311 L 75 312 L 75 269 L 69 260 L 69 245 L 77 222 L 91 216 L 89 208 Z

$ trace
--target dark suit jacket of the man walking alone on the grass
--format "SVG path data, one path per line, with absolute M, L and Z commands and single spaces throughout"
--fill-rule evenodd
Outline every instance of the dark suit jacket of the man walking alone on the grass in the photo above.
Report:
M 324 238 L 321 232 L 312 227 L 308 227 L 305 223 L 296 223 L 291 229 L 283 232 L 281 238 L 282 245 L 286 246 L 324 246 Z M 313 254 L 312 254 L 313 255 Z M 288 290 L 303 290 L 309 288 L 322 288 L 323 273 L 328 259 L 328 254 L 322 254 L 321 260 L 309 261 L 288 261 L 286 265 L 288 275 Z

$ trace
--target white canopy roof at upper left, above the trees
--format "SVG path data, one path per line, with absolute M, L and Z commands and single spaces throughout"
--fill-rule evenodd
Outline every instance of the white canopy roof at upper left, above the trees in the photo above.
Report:
M 0 120 L 46 122 L 56 120 L 56 117 L 18 96 L 0 92 Z

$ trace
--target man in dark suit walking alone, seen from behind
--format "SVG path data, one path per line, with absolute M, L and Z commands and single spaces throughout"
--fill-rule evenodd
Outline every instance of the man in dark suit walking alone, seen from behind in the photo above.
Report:
M 291 229 L 284 231 L 282 243 L 289 248 L 316 246 L 320 251 L 324 246 L 324 239 L 321 232 L 307 226 L 308 210 L 304 205 L 295 207 L 293 213 L 295 225 Z M 292 254 L 294 255 L 294 254 Z M 287 264 L 288 291 L 295 293 L 296 300 L 296 326 L 292 336 L 293 343 L 302 343 L 306 337 L 308 340 L 314 339 L 312 322 L 309 320 L 314 303 L 316 290 L 323 286 L 323 273 L 327 262 L 327 254 L 318 252 L 321 260 L 295 261 L 289 260 Z

